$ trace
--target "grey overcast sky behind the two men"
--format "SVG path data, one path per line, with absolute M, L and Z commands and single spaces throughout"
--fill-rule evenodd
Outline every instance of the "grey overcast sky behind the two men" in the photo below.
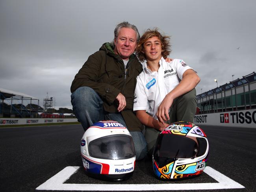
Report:
M 197 94 L 256 71 L 255 0 L 0 0 L 0 88 L 56 109 L 88 56 L 124 20 L 171 36 L 171 58 L 201 78 Z M 237 49 L 239 48 L 239 49 Z M 26 105 L 26 103 L 24 103 Z

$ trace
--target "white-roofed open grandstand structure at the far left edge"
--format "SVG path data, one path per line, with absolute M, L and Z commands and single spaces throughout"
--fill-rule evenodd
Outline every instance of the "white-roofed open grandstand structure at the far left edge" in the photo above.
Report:
M 26 103 L 28 104 L 26 105 Z M 37 107 L 34 108 L 33 106 Z M 39 99 L 24 93 L 0 88 L 0 118 L 33 117 L 37 115 L 38 107 Z

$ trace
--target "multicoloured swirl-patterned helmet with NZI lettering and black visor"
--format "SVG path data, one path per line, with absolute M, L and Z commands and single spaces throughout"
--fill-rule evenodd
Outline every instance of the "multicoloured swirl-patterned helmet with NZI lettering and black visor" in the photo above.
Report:
M 160 179 L 181 179 L 202 174 L 208 160 L 206 134 L 195 124 L 175 122 L 158 136 L 153 168 Z

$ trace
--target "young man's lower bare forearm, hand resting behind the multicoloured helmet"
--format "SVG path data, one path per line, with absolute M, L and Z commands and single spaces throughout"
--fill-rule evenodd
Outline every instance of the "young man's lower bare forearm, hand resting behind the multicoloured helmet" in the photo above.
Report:
M 146 113 L 146 110 L 135 111 L 137 118 L 147 127 L 155 128 L 158 131 L 163 131 L 163 129 L 169 124 L 162 124 L 152 116 Z

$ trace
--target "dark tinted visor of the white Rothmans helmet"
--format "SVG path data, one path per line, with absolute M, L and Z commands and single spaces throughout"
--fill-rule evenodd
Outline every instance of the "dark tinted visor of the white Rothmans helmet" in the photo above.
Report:
M 100 159 L 128 159 L 135 156 L 132 137 L 129 135 L 109 135 L 89 143 L 91 157 Z

